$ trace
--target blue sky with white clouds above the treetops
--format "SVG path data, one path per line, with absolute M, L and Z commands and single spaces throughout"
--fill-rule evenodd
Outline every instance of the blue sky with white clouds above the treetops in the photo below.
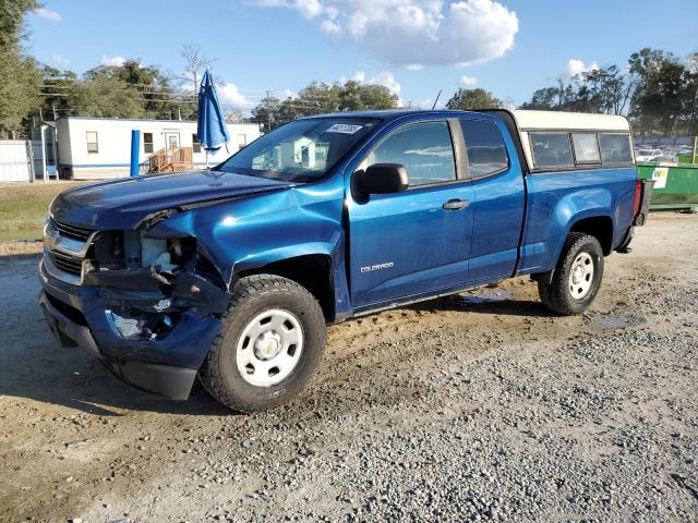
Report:
M 698 51 L 695 0 L 45 0 L 29 51 L 82 73 L 136 58 L 180 73 L 183 45 L 216 61 L 230 107 L 311 81 L 382 83 L 426 104 L 484 87 L 521 102 L 571 69 L 625 64 L 642 47 Z M 205 7 L 205 10 L 204 10 Z M 570 62 L 570 60 L 575 60 Z

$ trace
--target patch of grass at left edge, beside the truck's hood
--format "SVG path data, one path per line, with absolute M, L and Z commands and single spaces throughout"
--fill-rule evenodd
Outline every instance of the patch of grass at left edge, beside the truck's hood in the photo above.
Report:
M 51 200 L 61 191 L 84 184 L 85 182 L 0 184 L 0 255 L 23 251 L 24 242 L 17 240 L 40 240 Z M 12 245 L 12 248 L 7 244 Z

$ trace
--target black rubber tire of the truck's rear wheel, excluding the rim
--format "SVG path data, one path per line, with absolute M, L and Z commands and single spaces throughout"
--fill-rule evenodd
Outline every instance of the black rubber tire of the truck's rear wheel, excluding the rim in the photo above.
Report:
M 570 271 L 575 260 L 586 253 L 591 257 L 593 264 L 593 275 L 591 276 L 591 287 L 578 299 L 573 294 L 570 288 Z M 588 259 L 588 258 L 587 258 Z M 599 240 L 581 232 L 571 232 L 565 241 L 563 252 L 559 255 L 557 266 L 553 270 L 552 278 L 541 278 L 538 280 L 538 292 L 543 305 L 554 313 L 571 316 L 583 313 L 593 302 L 599 293 L 601 280 L 603 279 L 603 250 Z M 574 287 L 574 285 L 571 285 Z

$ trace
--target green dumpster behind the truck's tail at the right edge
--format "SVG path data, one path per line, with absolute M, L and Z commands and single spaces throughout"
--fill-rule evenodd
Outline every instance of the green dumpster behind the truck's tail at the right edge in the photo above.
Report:
M 642 180 L 654 180 L 651 210 L 698 210 L 698 165 L 642 162 L 637 165 L 637 172 Z

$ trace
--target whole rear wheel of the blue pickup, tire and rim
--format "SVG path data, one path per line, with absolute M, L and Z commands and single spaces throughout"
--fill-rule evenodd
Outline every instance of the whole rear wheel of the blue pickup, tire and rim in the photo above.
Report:
M 583 313 L 599 292 L 603 279 L 603 251 L 599 240 L 571 232 L 552 278 L 538 281 L 543 305 L 565 316 Z

